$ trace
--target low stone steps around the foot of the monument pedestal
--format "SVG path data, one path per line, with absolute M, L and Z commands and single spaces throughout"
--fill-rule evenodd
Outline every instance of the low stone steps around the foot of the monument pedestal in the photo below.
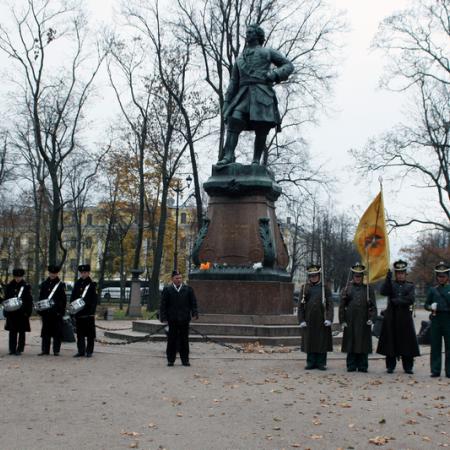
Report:
M 333 324 L 338 330 L 339 325 Z M 106 337 L 132 341 L 135 338 L 153 334 L 161 328 L 158 320 L 136 320 L 132 331 L 108 331 Z M 282 315 L 243 315 L 243 314 L 205 314 L 198 321 L 192 321 L 190 340 L 192 342 L 210 341 L 220 343 L 246 344 L 259 342 L 270 346 L 300 346 L 301 333 L 297 317 Z M 152 340 L 166 340 L 163 333 L 152 336 Z M 340 336 L 333 338 L 339 344 Z

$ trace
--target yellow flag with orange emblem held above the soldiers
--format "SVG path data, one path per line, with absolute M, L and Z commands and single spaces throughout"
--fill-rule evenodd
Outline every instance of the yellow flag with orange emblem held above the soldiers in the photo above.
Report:
M 384 278 L 389 270 L 389 240 L 382 191 L 361 217 L 353 242 L 368 271 L 368 282 Z

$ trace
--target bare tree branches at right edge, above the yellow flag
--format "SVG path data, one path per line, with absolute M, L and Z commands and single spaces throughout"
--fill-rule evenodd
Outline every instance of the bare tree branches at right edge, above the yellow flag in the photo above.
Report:
M 448 2 L 419 0 L 386 18 L 375 37 L 389 62 L 384 86 L 409 93 L 413 105 L 404 123 L 353 155 L 363 173 L 387 172 L 428 190 L 438 209 L 424 208 L 402 222 L 394 217 L 395 227 L 417 223 L 450 231 L 448 18 Z

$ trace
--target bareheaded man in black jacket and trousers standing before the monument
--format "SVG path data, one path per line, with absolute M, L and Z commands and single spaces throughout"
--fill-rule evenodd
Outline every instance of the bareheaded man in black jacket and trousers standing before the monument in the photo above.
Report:
M 161 294 L 160 320 L 169 325 L 167 337 L 167 365 L 173 366 L 180 352 L 183 366 L 189 363 L 189 322 L 198 319 L 197 299 L 194 290 L 183 284 L 177 270 L 172 272 L 172 284 L 165 286 Z

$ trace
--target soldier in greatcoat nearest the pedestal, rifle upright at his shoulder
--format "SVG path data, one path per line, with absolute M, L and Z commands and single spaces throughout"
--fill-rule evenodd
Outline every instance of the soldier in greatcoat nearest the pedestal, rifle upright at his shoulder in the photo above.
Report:
M 298 305 L 302 351 L 306 353 L 305 369 L 325 370 L 327 352 L 333 351 L 331 336 L 333 301 L 330 289 L 322 287 L 321 267 L 318 264 L 311 264 L 306 271 L 308 282 L 300 290 Z

